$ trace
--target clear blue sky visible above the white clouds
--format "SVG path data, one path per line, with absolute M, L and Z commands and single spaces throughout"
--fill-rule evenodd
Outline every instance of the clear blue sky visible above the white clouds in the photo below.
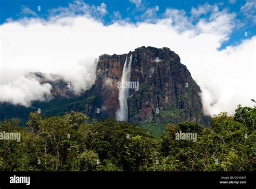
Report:
M 81 0 L 82 1 L 82 0 Z M 191 19 L 193 24 L 197 24 L 198 20 L 201 18 L 208 19 L 210 14 L 202 14 L 196 19 L 192 19 L 191 9 L 199 8 L 206 3 L 212 6 L 218 6 L 218 11 L 226 9 L 229 13 L 235 14 L 235 22 L 238 23 L 237 26 L 230 32 L 230 39 L 224 41 L 219 49 L 224 49 L 228 45 L 237 45 L 245 38 L 250 38 L 256 33 L 256 7 L 255 1 L 251 0 L 228 0 L 228 1 L 180 1 L 180 0 L 85 0 L 83 1 L 89 5 L 95 5 L 96 7 L 101 3 L 106 5 L 107 14 L 102 17 L 102 22 L 107 25 L 114 22 L 114 20 L 125 19 L 126 21 L 136 23 L 143 22 L 148 17 L 143 17 L 145 12 L 150 9 L 155 9 L 156 6 L 159 7 L 159 11 L 156 11 L 158 18 L 162 18 L 166 8 L 184 10 L 185 16 Z M 253 3 L 254 2 L 254 3 Z M 1 17 L 0 24 L 6 22 L 6 19 L 19 19 L 23 17 L 35 17 L 34 14 L 26 10 L 31 10 L 35 12 L 36 17 L 41 17 L 48 19 L 50 16 L 51 9 L 68 8 L 70 3 L 74 1 L 70 0 L 1 0 Z M 251 4 L 250 4 L 251 3 Z M 246 7 L 245 5 L 248 4 Z M 38 6 L 41 6 L 41 10 L 38 11 Z M 245 7 L 242 9 L 242 7 Z M 83 12 L 76 12 L 76 14 L 83 14 Z M 247 32 L 245 36 L 244 32 Z

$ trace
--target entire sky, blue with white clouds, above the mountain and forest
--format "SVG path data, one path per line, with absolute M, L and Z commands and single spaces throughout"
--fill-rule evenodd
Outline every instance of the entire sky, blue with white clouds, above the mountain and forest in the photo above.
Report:
M 233 113 L 255 98 L 256 3 L 229 1 L 1 1 L 0 102 L 50 96 L 30 72 L 61 75 L 79 94 L 95 58 L 139 46 L 170 48 L 202 90 L 205 112 Z

